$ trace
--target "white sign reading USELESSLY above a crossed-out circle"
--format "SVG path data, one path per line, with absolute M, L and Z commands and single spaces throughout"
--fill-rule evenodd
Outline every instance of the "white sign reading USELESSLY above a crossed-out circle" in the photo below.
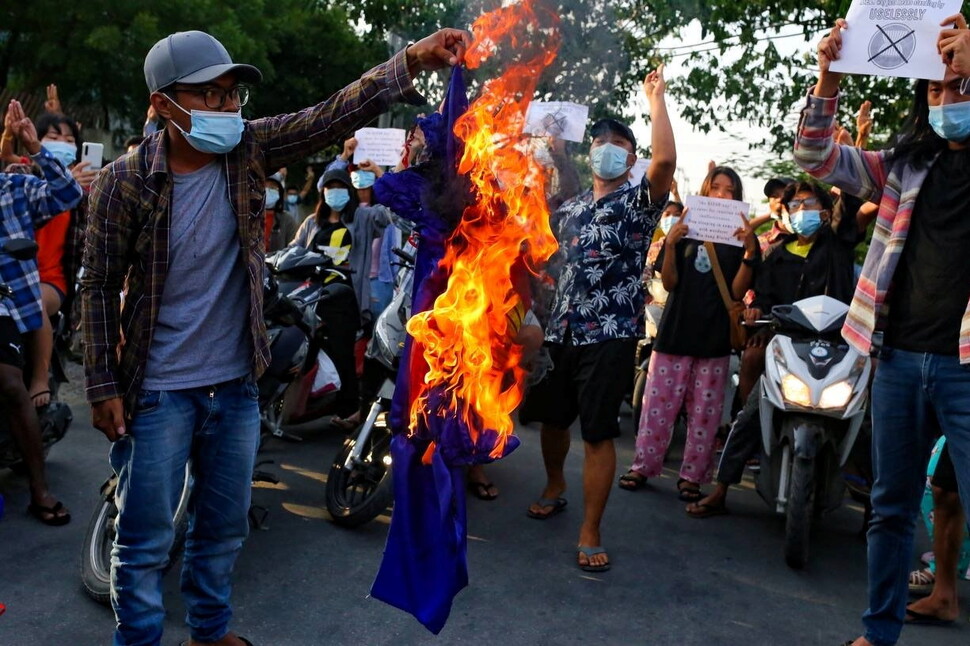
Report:
M 942 80 L 936 51 L 940 23 L 959 13 L 963 0 L 852 0 L 833 72 Z

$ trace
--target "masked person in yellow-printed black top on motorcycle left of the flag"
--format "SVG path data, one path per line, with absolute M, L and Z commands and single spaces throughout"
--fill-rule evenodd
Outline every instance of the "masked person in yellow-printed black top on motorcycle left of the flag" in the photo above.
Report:
M 347 171 L 333 168 L 320 178 L 323 199 L 303 221 L 290 246 L 298 245 L 329 256 L 338 269 L 350 270 L 353 236 L 347 222 L 357 210 L 357 193 Z M 349 273 L 349 271 L 348 271 Z M 325 283 L 338 280 L 334 274 Z M 348 277 L 347 283 L 351 284 Z M 358 406 L 359 384 L 354 362 L 354 342 L 360 329 L 360 311 L 353 292 L 328 300 L 318 308 L 320 320 L 326 326 L 328 354 L 340 376 L 340 391 L 334 402 L 337 418 L 354 414 Z

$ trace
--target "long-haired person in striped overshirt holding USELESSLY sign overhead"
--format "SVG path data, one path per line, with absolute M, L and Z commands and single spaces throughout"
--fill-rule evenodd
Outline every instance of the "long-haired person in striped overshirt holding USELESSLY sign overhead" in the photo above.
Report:
M 966 39 L 950 27 L 963 31 L 967 24 L 959 15 L 943 23 L 936 56 L 946 64 L 966 53 Z M 843 330 L 864 353 L 877 327 L 885 333 L 872 385 L 869 609 L 865 636 L 846 643 L 886 646 L 896 643 L 904 622 L 934 619 L 906 610 L 930 410 L 947 437 L 960 489 L 970 491 L 970 96 L 961 91 L 964 79 L 946 66 L 940 80 L 916 83 L 893 149 L 835 145 L 842 75 L 832 63 L 842 55 L 843 32 L 854 28 L 839 20 L 818 46 L 819 79 L 802 113 L 795 160 L 811 175 L 879 203 Z M 970 512 L 968 501 L 964 496 Z

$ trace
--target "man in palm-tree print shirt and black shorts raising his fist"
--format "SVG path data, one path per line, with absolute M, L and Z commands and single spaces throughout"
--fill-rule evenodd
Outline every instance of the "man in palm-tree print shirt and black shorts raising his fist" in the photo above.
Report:
M 550 262 L 557 284 L 546 345 L 555 367 L 530 390 L 522 409 L 523 421 L 542 423 L 547 483 L 528 510 L 540 520 L 566 506 L 563 465 L 569 426 L 580 419 L 585 515 L 577 559 L 582 569 L 593 572 L 610 567 L 600 520 L 616 471 L 613 439 L 620 433 L 617 416 L 643 330 L 643 265 L 676 167 L 663 68 L 651 72 L 643 87 L 653 123 L 653 158 L 643 181 L 637 186 L 628 182 L 636 161 L 633 132 L 604 119 L 591 130 L 593 188 L 553 215 L 560 249 Z

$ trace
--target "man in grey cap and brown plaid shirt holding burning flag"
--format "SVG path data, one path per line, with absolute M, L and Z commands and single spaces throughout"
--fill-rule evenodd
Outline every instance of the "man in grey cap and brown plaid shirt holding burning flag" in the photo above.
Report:
M 423 103 L 412 78 L 457 64 L 470 40 L 441 30 L 316 106 L 253 121 L 240 108 L 244 83 L 260 72 L 233 63 L 215 38 L 180 32 L 149 51 L 145 79 L 166 126 L 93 185 L 81 286 L 87 396 L 118 474 L 115 644 L 161 640 L 161 572 L 190 455 L 188 643 L 248 643 L 229 631 L 229 594 L 249 529 L 255 379 L 269 361 L 265 177 L 342 141 L 394 102 Z

